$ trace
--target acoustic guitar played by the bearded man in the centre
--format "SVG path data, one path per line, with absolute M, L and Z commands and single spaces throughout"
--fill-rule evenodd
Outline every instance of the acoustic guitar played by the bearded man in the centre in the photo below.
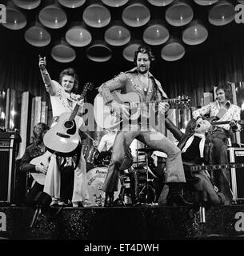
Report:
M 114 111 L 110 109 L 110 106 L 105 104 L 102 95 L 98 94 L 94 99 L 94 118 L 98 126 L 104 129 L 116 128 L 123 121 L 125 122 L 126 119 L 130 121 L 137 120 L 140 117 L 141 108 L 144 106 L 147 106 L 148 110 L 150 110 L 150 108 L 154 107 L 159 102 L 168 102 L 170 103 L 170 106 L 187 106 L 190 104 L 190 97 L 187 96 L 167 98 L 161 101 L 141 102 L 139 95 L 134 92 L 130 92 L 128 94 L 119 94 L 118 92 L 114 91 L 111 92 L 111 94 L 113 94 L 115 101 L 127 106 L 130 117 L 125 118 L 122 117 L 122 115 L 114 113 Z

